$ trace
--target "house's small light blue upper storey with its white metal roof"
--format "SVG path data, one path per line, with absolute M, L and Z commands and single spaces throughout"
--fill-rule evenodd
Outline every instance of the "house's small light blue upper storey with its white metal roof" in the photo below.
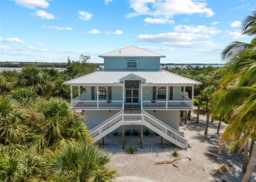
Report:
M 104 69 L 159 69 L 160 58 L 165 56 L 129 46 L 99 57 L 104 58 Z

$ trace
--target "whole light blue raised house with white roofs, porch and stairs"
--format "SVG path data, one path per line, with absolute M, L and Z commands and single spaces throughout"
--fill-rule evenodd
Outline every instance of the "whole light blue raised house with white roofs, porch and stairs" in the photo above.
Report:
M 146 126 L 186 148 L 188 141 L 179 132 L 180 111 L 192 110 L 194 85 L 200 82 L 160 70 L 164 55 L 134 46 L 99 57 L 104 58 L 103 70 L 64 82 L 70 85 L 72 107 L 84 111 L 94 141 L 113 131 L 142 131 Z M 76 98 L 73 86 L 79 90 Z

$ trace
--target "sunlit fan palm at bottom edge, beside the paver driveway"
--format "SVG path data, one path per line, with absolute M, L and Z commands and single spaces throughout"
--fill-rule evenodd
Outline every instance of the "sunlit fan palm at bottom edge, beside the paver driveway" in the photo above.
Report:
M 45 155 L 43 170 L 48 180 L 111 182 L 116 176 L 116 170 L 108 166 L 110 156 L 88 141 L 71 142 Z

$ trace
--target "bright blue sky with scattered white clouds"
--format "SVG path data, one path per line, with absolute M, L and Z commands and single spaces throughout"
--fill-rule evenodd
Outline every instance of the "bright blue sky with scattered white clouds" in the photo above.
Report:
M 1 0 L 0 61 L 66 62 L 134 45 L 161 63 L 222 63 L 254 0 Z

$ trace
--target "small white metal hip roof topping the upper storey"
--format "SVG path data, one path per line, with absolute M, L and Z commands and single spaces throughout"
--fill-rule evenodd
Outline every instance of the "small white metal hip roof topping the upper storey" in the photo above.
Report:
M 99 57 L 165 57 L 139 47 L 129 46 L 110 53 L 99 55 Z

